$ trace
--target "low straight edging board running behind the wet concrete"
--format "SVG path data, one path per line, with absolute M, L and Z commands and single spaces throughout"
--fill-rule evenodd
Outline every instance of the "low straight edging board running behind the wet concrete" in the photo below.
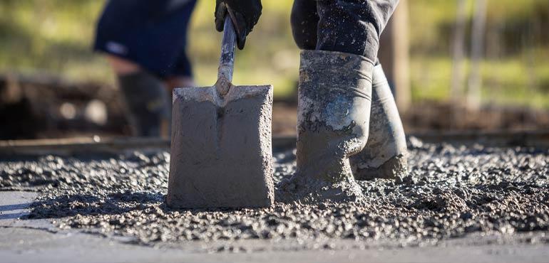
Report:
M 449 144 L 483 144 L 486 146 L 531 146 L 549 148 L 548 131 L 494 132 L 424 132 L 409 134 L 422 141 Z M 296 136 L 273 136 L 272 148 L 294 147 Z M 169 139 L 81 137 L 71 139 L 36 139 L 0 141 L 0 156 L 120 154 L 121 151 L 169 149 Z

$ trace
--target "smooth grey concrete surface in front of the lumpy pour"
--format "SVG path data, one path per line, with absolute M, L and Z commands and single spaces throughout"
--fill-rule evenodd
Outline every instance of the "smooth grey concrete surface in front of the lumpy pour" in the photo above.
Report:
M 18 220 L 36 193 L 0 192 L 0 262 L 548 262 L 549 245 L 481 242 L 466 237 L 437 246 L 375 249 L 284 249 L 290 241 L 253 241 L 257 252 L 206 252 L 207 242 L 178 247 L 128 245 L 120 237 L 58 230 L 46 220 Z M 354 247 L 342 240 L 337 247 Z M 229 244 L 229 242 L 227 242 Z M 346 244 L 349 244 L 347 246 Z M 350 245 L 354 244 L 354 245 Z M 473 245 L 477 244 L 477 245 Z M 481 244 L 481 245 L 478 245 Z M 483 245 L 482 245 L 483 244 Z M 235 245 L 235 244 L 233 244 Z M 272 248 L 269 248 L 272 245 Z M 289 246 L 291 247 L 291 246 Z

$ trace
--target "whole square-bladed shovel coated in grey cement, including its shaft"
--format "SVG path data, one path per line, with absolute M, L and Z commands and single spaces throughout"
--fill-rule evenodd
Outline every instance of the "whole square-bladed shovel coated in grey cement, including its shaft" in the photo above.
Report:
M 272 85 L 234 86 L 235 28 L 227 15 L 217 82 L 173 91 L 172 208 L 260 208 L 275 199 Z

